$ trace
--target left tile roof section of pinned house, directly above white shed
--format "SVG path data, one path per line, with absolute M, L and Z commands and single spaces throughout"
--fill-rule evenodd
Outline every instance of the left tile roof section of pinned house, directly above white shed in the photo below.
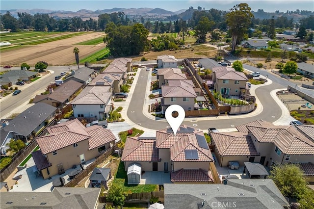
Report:
M 156 140 L 129 137 L 121 156 L 122 161 L 160 161 Z

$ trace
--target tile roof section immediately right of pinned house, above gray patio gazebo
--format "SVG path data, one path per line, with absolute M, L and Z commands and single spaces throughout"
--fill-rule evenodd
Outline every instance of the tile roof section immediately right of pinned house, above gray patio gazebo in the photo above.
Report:
M 242 132 L 217 133 L 210 132 L 221 156 L 258 156 L 260 155 L 254 146 L 250 136 Z

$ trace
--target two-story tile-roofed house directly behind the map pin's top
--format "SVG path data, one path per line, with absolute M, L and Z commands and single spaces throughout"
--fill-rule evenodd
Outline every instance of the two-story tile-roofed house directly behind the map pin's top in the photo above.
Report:
M 167 107 L 172 104 L 178 104 L 184 110 L 194 110 L 194 101 L 197 97 L 193 87 L 190 85 L 184 86 L 161 86 L 161 108 L 162 113 L 166 111 Z

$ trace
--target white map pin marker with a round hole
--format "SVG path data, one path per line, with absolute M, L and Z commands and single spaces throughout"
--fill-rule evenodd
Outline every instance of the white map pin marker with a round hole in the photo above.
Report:
M 173 117 L 172 112 L 177 111 L 178 117 Z M 167 122 L 169 123 L 173 133 L 176 135 L 181 123 L 183 122 L 185 117 L 185 111 L 182 106 L 178 104 L 172 104 L 170 105 L 165 112 L 165 118 Z

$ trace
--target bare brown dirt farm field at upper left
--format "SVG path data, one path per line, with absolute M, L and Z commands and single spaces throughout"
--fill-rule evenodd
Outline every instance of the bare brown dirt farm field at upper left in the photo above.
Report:
M 23 48 L 13 49 L 1 52 L 1 65 L 20 65 L 26 62 L 29 65 L 35 65 L 38 61 L 46 61 L 49 65 L 70 65 L 75 63 L 73 48 L 78 47 L 79 57 L 85 57 L 97 52 L 105 47 L 105 44 L 97 46 L 73 44 L 91 40 L 103 36 L 103 32 L 87 32 L 83 35 L 48 42 L 39 45 L 28 45 Z

